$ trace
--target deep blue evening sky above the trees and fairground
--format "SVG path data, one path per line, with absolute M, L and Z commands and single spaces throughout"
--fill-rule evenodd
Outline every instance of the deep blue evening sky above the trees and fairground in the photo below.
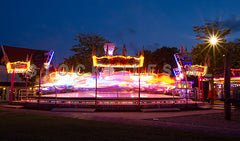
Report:
M 55 51 L 54 63 L 73 54 L 74 35 L 102 34 L 129 55 L 144 45 L 187 46 L 193 25 L 219 21 L 240 38 L 239 0 L 1 0 L 0 42 L 4 45 Z

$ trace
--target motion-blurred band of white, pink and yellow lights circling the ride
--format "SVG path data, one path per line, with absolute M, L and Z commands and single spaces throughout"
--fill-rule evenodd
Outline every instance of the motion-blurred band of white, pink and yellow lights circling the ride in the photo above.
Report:
M 58 90 L 71 87 L 73 90 L 81 90 L 85 88 L 95 87 L 95 76 L 90 73 L 77 75 L 76 73 L 69 72 L 61 75 L 58 72 L 50 74 L 50 79 L 47 83 L 42 84 L 45 91 L 52 91 L 57 88 Z M 169 92 L 175 88 L 175 81 L 166 74 L 140 74 L 141 90 L 152 91 L 158 93 Z M 139 87 L 139 75 L 132 72 L 113 72 L 111 75 L 98 75 L 98 88 L 126 88 L 135 91 Z

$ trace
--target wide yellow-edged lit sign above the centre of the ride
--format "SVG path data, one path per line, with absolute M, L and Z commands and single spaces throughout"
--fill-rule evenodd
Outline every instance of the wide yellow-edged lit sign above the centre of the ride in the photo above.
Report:
M 144 57 L 125 57 L 125 56 L 102 56 L 97 57 L 93 56 L 93 66 L 98 67 L 126 67 L 126 68 L 134 68 L 134 67 L 142 67 L 143 66 Z

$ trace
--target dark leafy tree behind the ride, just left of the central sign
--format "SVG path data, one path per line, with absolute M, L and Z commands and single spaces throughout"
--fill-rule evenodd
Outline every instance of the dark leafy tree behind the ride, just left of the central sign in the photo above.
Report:
M 69 58 L 64 58 L 64 64 L 68 65 L 69 69 L 82 64 L 85 66 L 84 72 L 91 72 L 93 46 L 96 47 L 96 54 L 103 56 L 103 46 L 109 41 L 96 33 L 78 33 L 78 35 L 75 35 L 74 41 L 76 41 L 76 44 L 71 48 L 71 51 L 75 52 L 75 54 Z

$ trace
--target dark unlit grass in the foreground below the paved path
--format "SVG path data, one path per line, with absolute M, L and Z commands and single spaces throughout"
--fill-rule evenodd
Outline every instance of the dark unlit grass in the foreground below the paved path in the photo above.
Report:
M 80 120 L 38 114 L 0 113 L 0 141 L 4 140 L 239 140 L 168 128 Z

